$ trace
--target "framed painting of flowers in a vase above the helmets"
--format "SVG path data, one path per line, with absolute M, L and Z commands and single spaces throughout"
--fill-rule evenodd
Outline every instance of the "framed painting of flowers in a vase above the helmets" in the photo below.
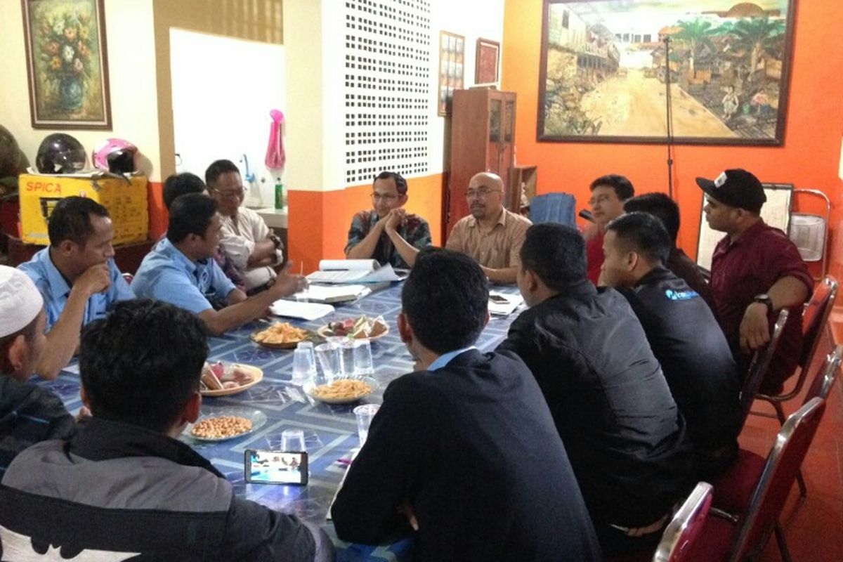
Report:
M 21 0 L 36 129 L 109 129 L 103 0 Z

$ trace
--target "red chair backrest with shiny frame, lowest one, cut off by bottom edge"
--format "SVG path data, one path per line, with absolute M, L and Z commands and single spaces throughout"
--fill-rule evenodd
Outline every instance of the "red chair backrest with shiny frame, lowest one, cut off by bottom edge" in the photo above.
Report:
M 711 484 L 700 482 L 664 529 L 653 562 L 682 562 L 690 559 L 694 545 L 706 524 L 711 507 Z

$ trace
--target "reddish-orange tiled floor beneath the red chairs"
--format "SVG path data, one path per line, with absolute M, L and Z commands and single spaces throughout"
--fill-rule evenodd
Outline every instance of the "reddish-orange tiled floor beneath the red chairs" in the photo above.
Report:
M 816 361 L 808 374 L 821 366 L 826 353 L 831 350 L 830 339 L 820 344 Z M 825 415 L 814 437 L 808 457 L 803 463 L 803 475 L 808 484 L 808 497 L 802 500 L 796 484 L 787 498 L 781 514 L 787 544 L 795 562 L 804 560 L 843 560 L 843 384 L 841 380 L 832 389 Z M 808 386 L 808 384 L 806 384 Z M 802 404 L 798 397 L 785 404 L 785 413 L 791 414 Z M 770 404 L 756 401 L 755 411 L 769 411 Z M 777 420 L 750 415 L 740 436 L 741 447 L 766 457 L 770 452 L 776 432 Z M 781 560 L 775 539 L 767 544 L 761 555 L 762 562 Z

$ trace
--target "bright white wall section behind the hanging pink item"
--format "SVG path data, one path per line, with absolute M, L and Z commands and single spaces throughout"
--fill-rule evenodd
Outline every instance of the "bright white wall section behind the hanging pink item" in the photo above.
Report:
M 269 112 L 285 110 L 283 46 L 184 29 L 170 29 L 169 45 L 180 171 L 204 179 L 208 164 L 228 158 L 248 188 L 245 154 L 265 205 L 273 206 L 275 179 L 264 157 Z

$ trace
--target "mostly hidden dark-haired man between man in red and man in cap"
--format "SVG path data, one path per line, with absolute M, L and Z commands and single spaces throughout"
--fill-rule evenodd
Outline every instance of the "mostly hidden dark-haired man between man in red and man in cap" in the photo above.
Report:
M 625 212 L 646 212 L 653 217 L 658 217 L 667 229 L 672 247 L 668 260 L 664 266 L 674 272 L 688 286 L 706 301 L 712 311 L 715 310 L 714 297 L 711 296 L 711 287 L 708 281 L 702 276 L 700 268 L 696 266 L 685 252 L 676 245 L 676 237 L 679 236 L 679 206 L 676 201 L 663 193 L 646 193 L 636 195 L 624 203 Z

